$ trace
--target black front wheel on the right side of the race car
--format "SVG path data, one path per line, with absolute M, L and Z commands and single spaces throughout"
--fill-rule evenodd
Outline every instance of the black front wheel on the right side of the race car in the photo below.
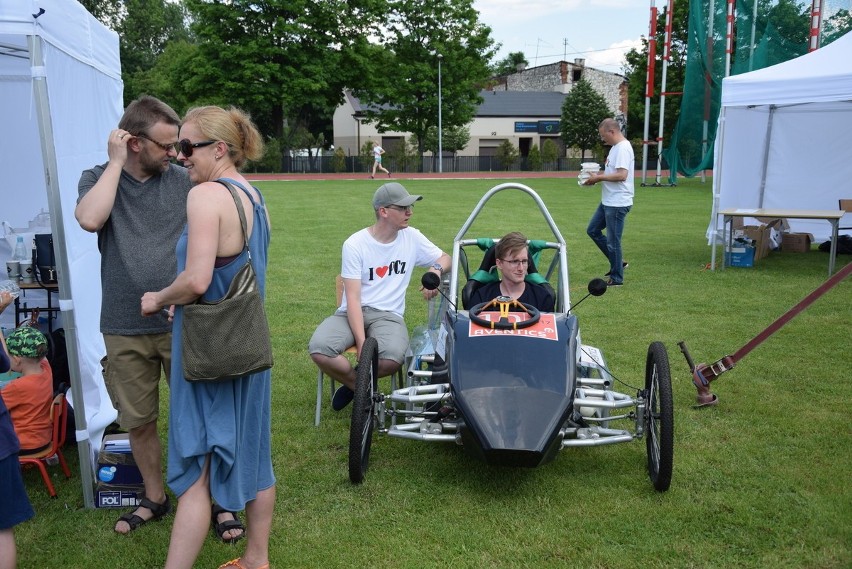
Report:
M 671 485 L 674 468 L 674 403 L 669 355 L 662 342 L 648 346 L 645 398 L 648 476 L 655 490 L 665 492 Z

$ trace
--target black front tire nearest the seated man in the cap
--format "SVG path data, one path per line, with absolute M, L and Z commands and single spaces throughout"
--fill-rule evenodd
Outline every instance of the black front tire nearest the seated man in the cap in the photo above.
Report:
M 349 480 L 360 484 L 370 464 L 370 444 L 376 423 L 373 398 L 379 383 L 379 344 L 367 338 L 361 348 L 352 400 L 352 421 L 349 424 Z

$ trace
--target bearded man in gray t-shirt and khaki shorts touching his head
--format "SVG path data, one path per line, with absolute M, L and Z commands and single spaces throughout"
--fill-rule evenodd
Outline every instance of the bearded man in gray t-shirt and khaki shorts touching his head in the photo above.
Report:
M 192 187 L 187 170 L 173 162 L 179 127 L 177 113 L 162 101 L 133 101 L 109 135 L 109 162 L 82 173 L 74 212 L 83 229 L 98 234 L 104 380 L 145 486 L 141 506 L 116 523 L 119 533 L 170 509 L 157 416 L 160 377 L 168 381 L 171 367 L 172 325 L 165 314 L 143 317 L 139 299 L 177 274 L 175 244 Z

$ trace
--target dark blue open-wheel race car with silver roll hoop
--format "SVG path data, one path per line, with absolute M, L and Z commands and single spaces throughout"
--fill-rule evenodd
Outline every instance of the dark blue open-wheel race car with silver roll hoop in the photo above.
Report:
M 534 202 L 552 240 L 529 241 L 527 281 L 550 287 L 553 312 L 507 297 L 469 306 L 470 295 L 496 279 L 495 239 L 470 238 L 469 229 L 492 197 L 523 192 Z M 471 271 L 466 251 L 485 250 Z M 651 483 L 669 488 L 674 454 L 674 414 L 665 346 L 648 347 L 645 381 L 635 393 L 614 389 L 603 353 L 582 343 L 575 305 L 569 300 L 565 240 L 541 198 L 527 186 L 500 184 L 479 201 L 453 240 L 452 268 L 423 286 L 438 289 L 429 323 L 416 330 L 403 367 L 403 385 L 382 393 L 378 345 L 361 350 L 349 439 L 349 478 L 363 482 L 374 434 L 449 442 L 498 466 L 536 467 L 570 447 L 644 439 Z M 589 295 L 606 292 L 594 279 Z M 513 310 L 514 309 L 514 310 Z

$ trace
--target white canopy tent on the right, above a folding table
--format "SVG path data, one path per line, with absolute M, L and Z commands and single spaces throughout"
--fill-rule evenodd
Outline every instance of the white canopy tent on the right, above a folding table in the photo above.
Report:
M 714 227 L 721 232 L 723 209 L 837 210 L 839 199 L 852 198 L 850 148 L 852 32 L 796 59 L 725 78 L 708 236 Z M 817 241 L 831 235 L 824 221 L 789 223 Z

